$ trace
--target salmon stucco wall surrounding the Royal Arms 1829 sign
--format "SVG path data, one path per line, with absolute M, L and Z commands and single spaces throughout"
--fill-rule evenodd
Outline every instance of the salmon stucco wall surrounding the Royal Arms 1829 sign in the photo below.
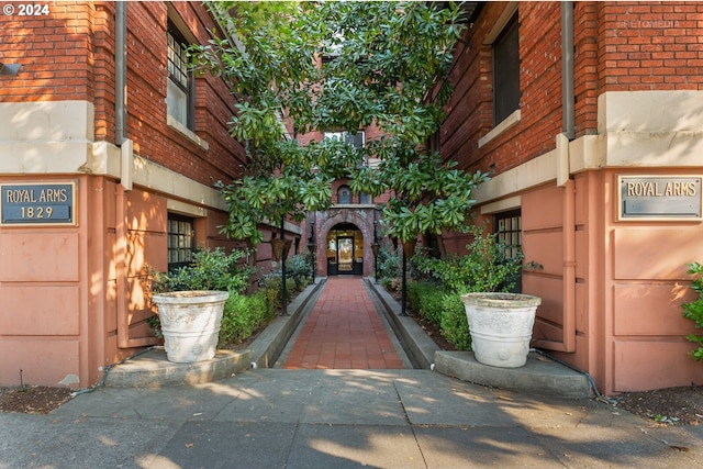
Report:
M 3 177 L 3 183 L 76 182 L 75 226 L 0 227 L 0 383 L 66 386 L 88 375 L 88 179 Z M 82 383 L 87 382 L 83 379 Z

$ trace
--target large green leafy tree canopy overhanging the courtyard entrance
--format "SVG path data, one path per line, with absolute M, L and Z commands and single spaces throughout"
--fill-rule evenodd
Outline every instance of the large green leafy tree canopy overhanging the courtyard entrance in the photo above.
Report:
M 261 241 L 257 223 L 331 204 L 331 182 L 394 193 L 384 206 L 389 234 L 464 231 L 471 192 L 486 179 L 425 150 L 444 120 L 448 72 L 462 10 L 433 2 L 211 2 L 226 37 L 192 46 L 194 66 L 222 77 L 237 99 L 232 135 L 247 143 L 246 176 L 220 183 L 230 208 L 225 232 Z M 284 124 L 286 123 L 286 124 Z M 383 137 L 365 148 L 311 131 L 369 125 Z M 364 167 L 368 156 L 381 159 Z

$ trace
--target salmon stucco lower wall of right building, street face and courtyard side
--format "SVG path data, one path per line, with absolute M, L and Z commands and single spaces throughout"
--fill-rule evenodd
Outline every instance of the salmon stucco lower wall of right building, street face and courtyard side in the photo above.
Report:
M 703 369 L 688 356 L 694 346 L 685 339 L 696 331 L 681 303 L 695 299 L 685 265 L 703 260 L 703 224 L 617 221 L 617 177 L 628 174 L 647 171 L 574 177 L 576 347 L 548 351 L 588 371 L 609 395 L 701 384 Z M 550 183 L 521 196 L 526 260 L 543 267 L 523 273 L 523 291 L 543 298 L 533 333 L 537 346 L 563 337 L 563 191 Z

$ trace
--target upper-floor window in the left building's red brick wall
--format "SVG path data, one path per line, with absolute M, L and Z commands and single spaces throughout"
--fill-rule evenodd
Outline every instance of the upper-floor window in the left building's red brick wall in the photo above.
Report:
M 188 57 L 183 46 L 183 36 L 169 22 L 166 33 L 168 40 L 168 82 L 166 88 L 166 110 L 191 131 L 194 129 L 194 79 L 188 69 Z

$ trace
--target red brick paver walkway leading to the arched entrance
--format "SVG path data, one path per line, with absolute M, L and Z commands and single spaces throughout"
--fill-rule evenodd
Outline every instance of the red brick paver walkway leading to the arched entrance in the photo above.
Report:
M 283 368 L 402 369 L 359 277 L 330 277 Z

